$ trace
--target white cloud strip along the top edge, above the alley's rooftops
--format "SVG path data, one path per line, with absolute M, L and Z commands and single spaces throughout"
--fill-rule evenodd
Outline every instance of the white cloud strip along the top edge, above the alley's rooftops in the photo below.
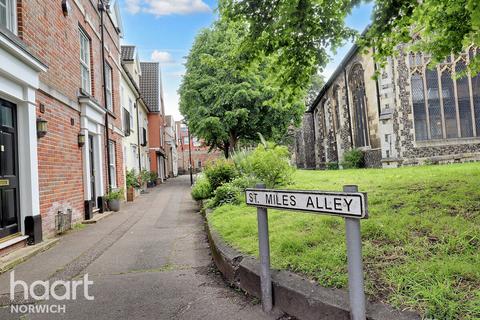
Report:
M 126 5 L 132 14 L 141 11 L 157 17 L 211 11 L 203 0 L 126 0 Z

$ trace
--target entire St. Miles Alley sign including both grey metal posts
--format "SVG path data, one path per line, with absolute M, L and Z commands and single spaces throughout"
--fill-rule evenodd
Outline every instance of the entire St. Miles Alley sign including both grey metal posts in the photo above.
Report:
M 345 218 L 350 314 L 352 320 L 365 320 L 360 219 L 368 218 L 367 195 L 358 192 L 357 186 L 344 186 L 343 192 L 324 192 L 271 190 L 258 184 L 255 189 L 245 190 L 245 198 L 247 205 L 257 207 L 263 310 L 268 312 L 273 306 L 267 208 L 277 208 Z

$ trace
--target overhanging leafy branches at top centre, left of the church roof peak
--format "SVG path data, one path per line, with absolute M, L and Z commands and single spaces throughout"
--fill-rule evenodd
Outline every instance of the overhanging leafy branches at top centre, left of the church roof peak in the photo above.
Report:
M 356 32 L 345 18 L 359 0 L 221 0 L 224 20 L 247 22 L 247 37 L 240 50 L 250 61 L 275 57 L 271 75 L 291 92 L 308 89 L 312 76 L 328 63 L 335 50 Z

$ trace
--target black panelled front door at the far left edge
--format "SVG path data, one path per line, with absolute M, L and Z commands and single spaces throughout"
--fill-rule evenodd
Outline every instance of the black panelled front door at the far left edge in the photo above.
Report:
M 0 238 L 20 230 L 16 106 L 0 99 Z

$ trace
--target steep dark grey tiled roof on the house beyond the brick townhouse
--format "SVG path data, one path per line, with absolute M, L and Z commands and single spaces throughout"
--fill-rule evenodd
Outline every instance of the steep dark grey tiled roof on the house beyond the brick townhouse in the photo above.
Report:
M 160 111 L 160 65 L 158 62 L 140 62 L 140 93 L 151 112 Z

